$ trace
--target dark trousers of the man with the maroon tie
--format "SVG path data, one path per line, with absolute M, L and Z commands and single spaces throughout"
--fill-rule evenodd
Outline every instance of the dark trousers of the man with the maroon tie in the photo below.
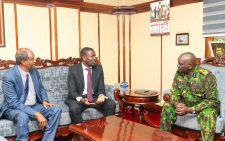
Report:
M 104 116 L 114 115 L 116 109 L 116 103 L 112 99 L 107 99 L 102 104 L 96 104 L 91 106 L 87 106 L 83 103 L 73 100 L 70 103 L 67 103 L 67 105 L 69 107 L 71 121 L 75 124 L 83 122 L 81 113 L 87 108 L 95 108 L 102 112 Z

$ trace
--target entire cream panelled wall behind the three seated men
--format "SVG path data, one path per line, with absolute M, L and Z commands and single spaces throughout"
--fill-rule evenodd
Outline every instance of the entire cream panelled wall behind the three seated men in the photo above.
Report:
M 113 1 L 111 1 L 113 2 Z M 134 1 L 130 1 L 134 2 Z M 109 3 L 111 4 L 111 3 Z M 170 35 L 162 37 L 162 85 L 169 88 L 176 70 L 176 59 L 185 51 L 197 57 L 204 57 L 204 38 L 202 38 L 202 2 L 171 8 Z M 13 4 L 4 4 L 6 47 L 0 48 L 0 59 L 13 59 L 16 51 L 15 17 Z M 193 16 L 195 15 L 195 16 Z M 118 80 L 118 27 L 117 16 L 100 14 L 98 33 L 98 14 L 80 13 L 77 9 L 57 8 L 58 41 L 55 40 L 54 10 L 51 8 L 52 56 L 55 59 L 55 43 L 58 43 L 58 57 L 79 57 L 81 47 L 93 47 L 100 56 L 105 70 L 106 83 Z M 120 81 L 123 81 L 123 24 L 120 16 Z M 17 5 L 19 47 L 29 47 L 36 56 L 50 58 L 50 25 L 47 7 Z M 129 42 L 129 16 L 125 18 L 125 59 L 126 81 L 129 81 L 129 43 L 131 43 L 131 86 L 135 89 L 160 90 L 160 36 L 150 36 L 149 12 L 131 16 L 131 42 Z M 188 32 L 190 45 L 176 46 L 175 35 Z M 100 35 L 100 36 L 99 36 Z M 100 42 L 99 42 L 100 39 Z M 100 50 L 99 50 L 100 46 Z M 100 52 L 100 54 L 99 54 Z

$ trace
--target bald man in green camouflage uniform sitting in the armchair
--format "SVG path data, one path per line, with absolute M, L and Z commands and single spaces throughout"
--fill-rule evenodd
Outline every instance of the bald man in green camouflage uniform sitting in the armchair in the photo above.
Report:
M 213 141 L 216 118 L 219 111 L 218 91 L 215 76 L 196 66 L 196 57 L 190 52 L 178 58 L 170 103 L 163 105 L 160 129 L 171 131 L 176 115 L 197 114 L 203 141 Z

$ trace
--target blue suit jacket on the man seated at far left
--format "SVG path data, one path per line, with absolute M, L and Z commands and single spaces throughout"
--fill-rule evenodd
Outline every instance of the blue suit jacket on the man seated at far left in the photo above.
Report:
M 22 110 L 30 116 L 34 116 L 36 112 L 30 106 L 22 103 L 25 92 L 23 80 L 18 67 L 18 65 L 15 65 L 3 76 L 2 92 L 4 94 L 4 102 L 0 111 L 0 117 L 7 109 Z M 29 73 L 34 84 L 37 102 L 42 103 L 43 101 L 48 101 L 46 90 L 42 85 L 37 69 L 33 68 Z

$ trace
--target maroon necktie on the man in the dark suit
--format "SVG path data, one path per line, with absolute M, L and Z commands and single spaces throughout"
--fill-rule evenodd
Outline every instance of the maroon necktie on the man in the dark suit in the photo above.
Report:
M 88 74 L 87 74 L 87 98 L 89 102 L 92 102 L 93 96 L 92 96 L 92 76 L 91 76 L 91 68 L 87 68 Z

